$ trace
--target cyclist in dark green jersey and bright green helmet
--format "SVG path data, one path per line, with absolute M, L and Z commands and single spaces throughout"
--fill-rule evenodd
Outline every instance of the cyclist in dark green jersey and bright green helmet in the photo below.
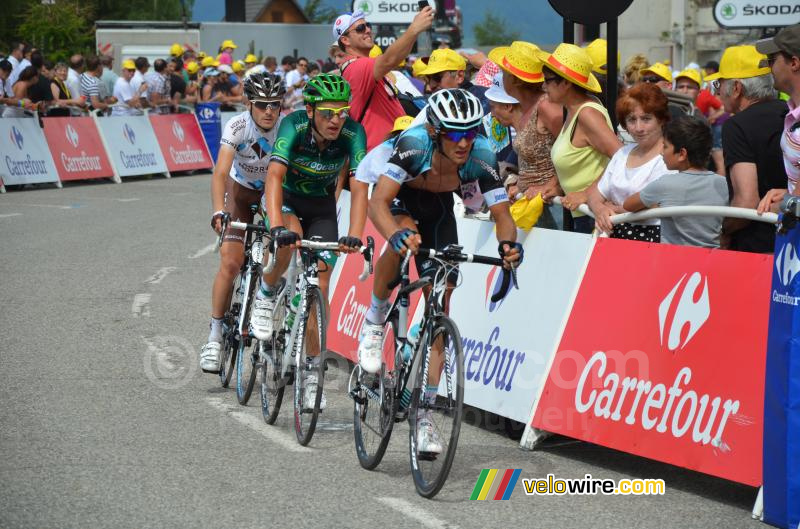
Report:
M 366 154 L 364 128 L 348 117 L 350 85 L 338 75 L 321 74 L 308 81 L 303 90 L 305 110 L 286 116 L 278 130 L 267 169 L 262 205 L 277 246 L 276 265 L 265 274 L 256 294 L 250 329 L 259 340 L 272 335 L 272 311 L 278 281 L 289 266 L 292 250 L 301 238 L 319 236 L 337 241 L 340 251 L 351 253 L 361 247 L 361 233 L 367 216 L 367 184 L 355 179 L 356 168 Z M 348 235 L 339 237 L 336 222 L 336 186 L 349 178 L 351 205 Z M 328 298 L 328 283 L 336 258 L 320 255 L 319 286 Z M 309 320 L 308 356 L 319 355 L 315 344 L 316 322 Z M 313 376 L 313 375 L 312 375 Z M 305 398 L 316 398 L 315 381 L 307 382 Z M 324 407 L 323 396 L 322 405 Z

